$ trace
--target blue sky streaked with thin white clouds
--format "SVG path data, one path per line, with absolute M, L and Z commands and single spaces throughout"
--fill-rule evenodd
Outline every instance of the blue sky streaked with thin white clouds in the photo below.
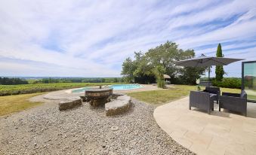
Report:
M 0 76 L 120 77 L 125 58 L 166 41 L 256 60 L 256 1 L 0 1 Z M 241 62 L 224 70 L 241 77 Z

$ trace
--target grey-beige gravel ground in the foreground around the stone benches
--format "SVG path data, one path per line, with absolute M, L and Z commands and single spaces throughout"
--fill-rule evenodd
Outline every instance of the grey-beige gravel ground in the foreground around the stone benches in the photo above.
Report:
M 153 105 L 133 100 L 128 113 L 106 117 L 87 103 L 59 111 L 58 101 L 0 117 L 0 154 L 193 154 L 153 118 Z

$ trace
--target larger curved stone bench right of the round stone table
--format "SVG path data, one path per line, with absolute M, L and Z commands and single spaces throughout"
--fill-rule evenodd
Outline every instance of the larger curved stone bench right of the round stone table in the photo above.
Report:
M 129 110 L 131 103 L 130 96 L 118 96 L 116 100 L 105 104 L 106 116 L 123 114 Z

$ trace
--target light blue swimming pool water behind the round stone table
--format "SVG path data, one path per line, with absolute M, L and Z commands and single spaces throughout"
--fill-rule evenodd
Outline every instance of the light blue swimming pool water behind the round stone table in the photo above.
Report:
M 141 88 L 142 86 L 140 84 L 113 84 L 113 85 L 110 85 L 109 87 L 113 88 L 113 90 L 133 90 L 133 89 Z M 88 89 L 90 89 L 90 87 L 83 87 L 76 90 L 72 90 L 72 93 L 82 93 Z

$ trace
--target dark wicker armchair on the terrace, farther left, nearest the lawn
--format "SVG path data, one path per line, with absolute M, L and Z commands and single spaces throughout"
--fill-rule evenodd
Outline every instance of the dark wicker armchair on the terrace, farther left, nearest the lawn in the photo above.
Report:
M 191 107 L 205 110 L 210 114 L 214 108 L 213 96 L 207 92 L 190 91 L 190 110 Z

